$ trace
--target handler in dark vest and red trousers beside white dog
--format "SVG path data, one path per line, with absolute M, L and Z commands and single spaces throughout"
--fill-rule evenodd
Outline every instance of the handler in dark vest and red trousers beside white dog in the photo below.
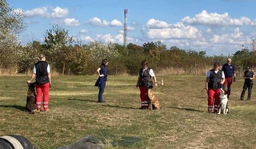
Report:
M 208 113 L 212 113 L 213 105 L 213 113 L 218 112 L 220 102 L 220 89 L 221 85 L 225 82 L 224 72 L 219 70 L 220 63 L 214 63 L 213 67 L 214 68 L 212 70 L 207 72 L 205 81 L 205 88 L 208 94 Z

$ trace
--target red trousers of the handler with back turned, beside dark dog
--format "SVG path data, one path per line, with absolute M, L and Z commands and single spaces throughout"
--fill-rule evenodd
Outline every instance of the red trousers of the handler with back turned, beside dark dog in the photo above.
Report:
M 42 98 L 42 93 L 43 93 L 43 105 L 44 105 L 44 110 L 49 109 L 48 104 L 49 104 L 49 85 L 50 83 L 47 82 L 44 85 L 36 84 L 36 107 L 37 110 L 41 110 L 41 98 Z

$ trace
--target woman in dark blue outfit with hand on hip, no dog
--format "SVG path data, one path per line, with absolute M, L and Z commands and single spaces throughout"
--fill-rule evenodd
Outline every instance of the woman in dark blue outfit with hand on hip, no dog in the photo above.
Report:
M 106 86 L 106 81 L 108 80 L 108 72 L 107 72 L 108 59 L 102 59 L 102 63 L 100 67 L 97 69 L 97 73 L 99 74 L 99 79 L 95 82 L 95 86 L 99 87 L 99 95 L 98 102 L 104 103 L 105 101 L 102 98 L 102 94 L 104 93 L 104 89 Z

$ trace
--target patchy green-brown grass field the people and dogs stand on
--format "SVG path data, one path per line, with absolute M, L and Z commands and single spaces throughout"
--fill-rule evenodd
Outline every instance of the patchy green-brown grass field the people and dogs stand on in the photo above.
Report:
M 52 77 L 50 111 L 28 114 L 29 76 L 1 76 L 0 136 L 22 135 L 40 149 L 88 134 L 106 140 L 104 148 L 256 148 L 256 92 L 250 102 L 240 101 L 243 79 L 232 85 L 230 113 L 224 115 L 207 113 L 205 76 L 157 76 L 164 80 L 153 89 L 159 111 L 138 109 L 137 78 L 109 76 L 106 103 L 99 104 L 96 76 Z

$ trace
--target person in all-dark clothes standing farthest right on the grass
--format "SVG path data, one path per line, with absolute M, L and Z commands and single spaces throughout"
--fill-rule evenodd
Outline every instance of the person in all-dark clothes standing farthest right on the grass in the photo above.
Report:
M 250 67 L 246 67 L 246 71 L 244 72 L 244 86 L 243 86 L 243 91 L 241 93 L 240 100 L 244 100 L 244 94 L 245 94 L 245 91 L 247 90 L 247 88 L 248 88 L 247 100 L 251 100 L 254 78 L 255 78 L 254 72 L 251 70 Z

